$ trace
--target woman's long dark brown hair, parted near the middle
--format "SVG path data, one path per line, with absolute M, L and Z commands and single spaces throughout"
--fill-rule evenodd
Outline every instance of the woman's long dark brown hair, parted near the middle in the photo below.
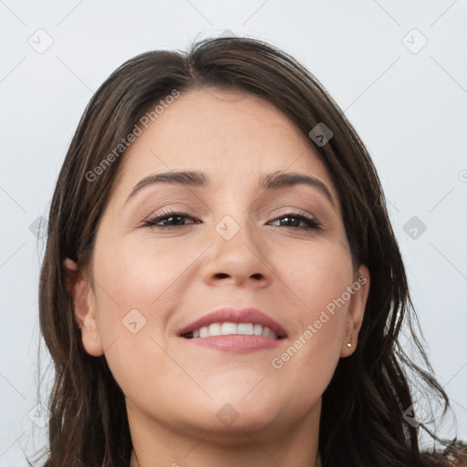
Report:
M 354 265 L 367 265 L 371 287 L 358 347 L 351 357 L 339 360 L 323 394 L 323 467 L 454 465 L 450 459 L 461 459 L 456 439 L 443 441 L 432 433 L 444 444 L 444 453 L 434 448 L 420 452 L 420 427 L 428 428 L 404 416 L 414 402 L 410 382 L 415 379 L 430 390 L 431 400 L 441 401 L 443 416 L 450 404 L 431 375 L 411 318 L 400 249 L 368 150 L 327 90 L 293 57 L 260 40 L 223 37 L 194 43 L 188 53 L 158 50 L 131 58 L 92 97 L 71 141 L 50 207 L 39 285 L 40 329 L 55 367 L 47 402 L 52 417 L 45 466 L 130 463 L 124 394 L 106 358 L 89 356 L 81 344 L 63 264 L 71 258 L 80 269 L 88 265 L 124 156 L 121 141 L 174 89 L 186 93 L 203 86 L 260 96 L 285 112 L 306 136 L 318 123 L 333 133 L 327 144 L 311 139 L 310 144 L 337 188 Z M 104 160 L 109 163 L 102 164 Z M 425 369 L 401 348 L 402 325 L 408 326 Z

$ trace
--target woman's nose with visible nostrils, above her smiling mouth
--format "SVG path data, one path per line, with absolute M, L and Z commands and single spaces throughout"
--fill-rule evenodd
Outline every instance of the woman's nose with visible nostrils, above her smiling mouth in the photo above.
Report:
M 265 243 L 257 233 L 226 216 L 213 233 L 209 258 L 203 265 L 204 282 L 255 288 L 270 285 L 274 273 L 265 251 Z

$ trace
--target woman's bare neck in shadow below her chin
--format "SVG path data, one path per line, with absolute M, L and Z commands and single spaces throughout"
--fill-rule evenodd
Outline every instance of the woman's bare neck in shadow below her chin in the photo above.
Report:
M 130 467 L 321 467 L 317 449 L 321 401 L 301 420 L 262 429 L 200 430 L 162 425 L 127 402 L 133 451 Z

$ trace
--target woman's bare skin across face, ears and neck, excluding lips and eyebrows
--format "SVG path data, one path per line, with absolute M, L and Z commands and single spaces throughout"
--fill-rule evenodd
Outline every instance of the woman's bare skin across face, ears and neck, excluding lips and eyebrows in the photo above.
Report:
M 313 143 L 265 100 L 203 88 L 176 99 L 121 162 L 73 295 L 84 348 L 105 354 L 126 396 L 130 467 L 213 467 L 220 459 L 223 467 L 319 467 L 321 396 L 339 358 L 358 344 L 369 274 L 352 267 L 337 191 Z M 203 171 L 211 185 L 148 185 L 127 202 L 141 179 L 175 170 Z M 306 185 L 261 190 L 260 176 L 274 171 L 316 177 L 336 207 Z M 168 208 L 189 217 L 166 230 L 141 226 Z M 323 230 L 284 220 L 300 212 Z M 215 229 L 225 215 L 240 227 L 230 240 Z M 274 368 L 273 358 L 358 276 L 366 284 Z M 177 337 L 224 305 L 265 311 L 287 338 L 280 348 L 240 354 Z M 146 319 L 135 334 L 122 324 L 132 309 Z M 216 417 L 226 403 L 238 413 L 228 426 Z

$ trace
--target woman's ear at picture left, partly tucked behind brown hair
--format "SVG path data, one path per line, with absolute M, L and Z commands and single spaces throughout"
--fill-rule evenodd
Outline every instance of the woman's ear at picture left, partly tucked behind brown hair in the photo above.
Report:
M 73 300 L 75 319 L 81 329 L 83 347 L 89 355 L 100 357 L 104 354 L 97 322 L 97 306 L 91 279 L 81 274 L 78 265 L 67 258 L 63 262 L 65 286 Z

